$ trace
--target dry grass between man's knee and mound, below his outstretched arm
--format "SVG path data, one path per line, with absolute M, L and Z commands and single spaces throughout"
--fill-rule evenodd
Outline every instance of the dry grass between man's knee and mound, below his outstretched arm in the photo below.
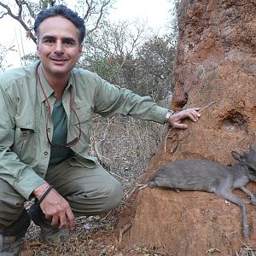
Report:
M 129 117 L 118 116 L 104 121 L 96 117 L 91 154 L 101 160 L 102 166 L 119 179 L 128 192 L 147 170 L 149 161 L 164 140 L 165 127 Z

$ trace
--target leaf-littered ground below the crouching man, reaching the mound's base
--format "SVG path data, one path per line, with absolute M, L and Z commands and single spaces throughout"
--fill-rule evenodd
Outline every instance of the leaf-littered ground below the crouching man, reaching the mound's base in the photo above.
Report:
M 133 196 L 134 197 L 134 196 Z M 129 201 L 131 198 L 129 198 Z M 28 204 L 29 205 L 29 204 Z M 28 206 L 29 207 L 29 206 Z M 125 209 L 125 213 L 121 213 Z M 35 224 L 31 224 L 23 240 L 20 256 L 136 256 L 136 255 L 167 255 L 156 252 L 154 249 L 139 245 L 126 247 L 123 236 L 129 231 L 131 225 L 119 228 L 118 220 L 121 215 L 123 222 L 129 222 L 127 207 L 119 208 L 102 215 L 81 217 L 76 219 L 76 230 L 69 231 L 68 240 L 65 243 L 45 243 L 40 238 L 40 230 Z M 125 214 L 127 217 L 125 218 Z M 122 245 L 121 245 L 122 244 Z

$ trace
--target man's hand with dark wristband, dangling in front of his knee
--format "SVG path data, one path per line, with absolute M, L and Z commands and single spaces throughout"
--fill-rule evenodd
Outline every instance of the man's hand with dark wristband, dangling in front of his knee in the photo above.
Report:
M 40 197 L 44 189 L 48 186 L 48 183 L 42 184 L 34 190 L 33 194 Z M 72 209 L 68 202 L 55 189 L 51 189 L 49 194 L 44 197 L 40 208 L 45 218 L 51 219 L 52 226 L 59 226 L 59 229 L 62 229 L 68 223 L 70 229 L 74 230 L 75 224 Z

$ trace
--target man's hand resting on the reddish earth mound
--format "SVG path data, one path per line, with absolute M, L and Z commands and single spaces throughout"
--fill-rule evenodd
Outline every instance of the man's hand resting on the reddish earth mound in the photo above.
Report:
M 182 120 L 189 118 L 193 122 L 196 122 L 201 117 L 201 114 L 198 113 L 198 110 L 200 110 L 200 108 L 188 108 L 180 112 L 174 113 L 172 114 L 172 116 L 169 117 L 169 119 L 167 119 L 167 122 L 174 128 L 187 129 L 189 126 L 183 124 Z

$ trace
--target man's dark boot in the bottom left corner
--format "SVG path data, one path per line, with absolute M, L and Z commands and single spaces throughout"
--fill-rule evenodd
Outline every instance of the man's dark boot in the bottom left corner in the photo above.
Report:
M 21 239 L 26 235 L 29 225 L 30 218 L 24 209 L 12 225 L 0 231 L 0 256 L 19 255 Z

